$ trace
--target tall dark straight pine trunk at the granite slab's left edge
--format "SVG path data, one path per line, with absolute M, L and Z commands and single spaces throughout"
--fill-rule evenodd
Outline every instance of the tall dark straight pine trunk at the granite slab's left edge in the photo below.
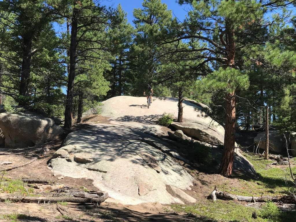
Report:
M 76 47 L 77 47 L 77 27 L 78 27 L 78 9 L 73 9 L 70 41 L 70 70 L 68 74 L 68 87 L 65 105 L 65 128 L 72 128 L 72 103 L 74 91 L 75 65 L 76 65 Z

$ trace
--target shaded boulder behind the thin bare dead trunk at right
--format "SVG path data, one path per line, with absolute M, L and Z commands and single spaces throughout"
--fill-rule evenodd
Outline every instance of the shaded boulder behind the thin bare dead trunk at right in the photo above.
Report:
M 255 148 L 265 149 L 266 132 L 258 133 L 254 138 Z M 269 131 L 269 152 L 285 153 L 285 139 L 284 135 L 278 130 Z

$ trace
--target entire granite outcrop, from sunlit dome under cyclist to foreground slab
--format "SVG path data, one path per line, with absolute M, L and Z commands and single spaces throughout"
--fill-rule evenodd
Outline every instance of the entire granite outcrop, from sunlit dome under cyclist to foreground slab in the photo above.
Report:
M 117 96 L 103 102 L 101 115 L 108 123 L 70 133 L 53 155 L 54 173 L 89 178 L 108 192 L 111 201 L 123 204 L 195 202 L 186 193 L 193 177 L 180 165 L 189 163 L 168 140 L 168 129 L 157 124 L 164 112 L 177 116 L 175 98 L 154 99 L 148 109 L 145 97 Z M 84 114 L 84 118 L 91 111 Z M 184 123 L 176 124 L 187 136 L 211 146 L 216 166 L 221 159 L 224 129 L 196 104 L 184 102 Z M 178 125 L 178 126 L 177 126 Z M 244 174 L 255 170 L 237 150 L 234 168 Z

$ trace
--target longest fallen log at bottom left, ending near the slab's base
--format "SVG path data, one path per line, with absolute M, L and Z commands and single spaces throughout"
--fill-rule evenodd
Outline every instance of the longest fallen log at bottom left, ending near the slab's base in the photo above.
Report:
M 22 203 L 57 203 L 57 202 L 70 202 L 70 203 L 92 203 L 100 205 L 108 198 L 108 193 L 103 196 L 95 198 L 81 198 L 81 197 L 19 197 L 19 196 L 1 196 L 0 201 L 22 202 Z

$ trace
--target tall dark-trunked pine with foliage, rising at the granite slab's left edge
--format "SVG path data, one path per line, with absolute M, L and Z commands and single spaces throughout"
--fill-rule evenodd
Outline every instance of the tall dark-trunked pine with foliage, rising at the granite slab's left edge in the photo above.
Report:
M 75 77 L 78 75 L 77 63 L 79 60 L 101 59 L 98 56 L 90 56 L 89 52 L 96 50 L 108 51 L 108 39 L 102 38 L 102 35 L 108 27 L 120 20 L 113 10 L 106 9 L 99 4 L 96 5 L 92 0 L 52 0 L 51 5 L 55 8 L 56 14 L 60 15 L 61 18 L 65 18 L 71 26 L 70 44 L 67 50 L 70 58 L 65 105 L 65 127 L 72 128 L 74 83 Z M 92 32 L 95 32 L 96 35 L 93 35 Z M 84 44 L 85 47 L 83 48 L 81 46 L 83 43 L 89 44 Z M 91 46 L 90 43 L 93 43 L 94 46 Z

